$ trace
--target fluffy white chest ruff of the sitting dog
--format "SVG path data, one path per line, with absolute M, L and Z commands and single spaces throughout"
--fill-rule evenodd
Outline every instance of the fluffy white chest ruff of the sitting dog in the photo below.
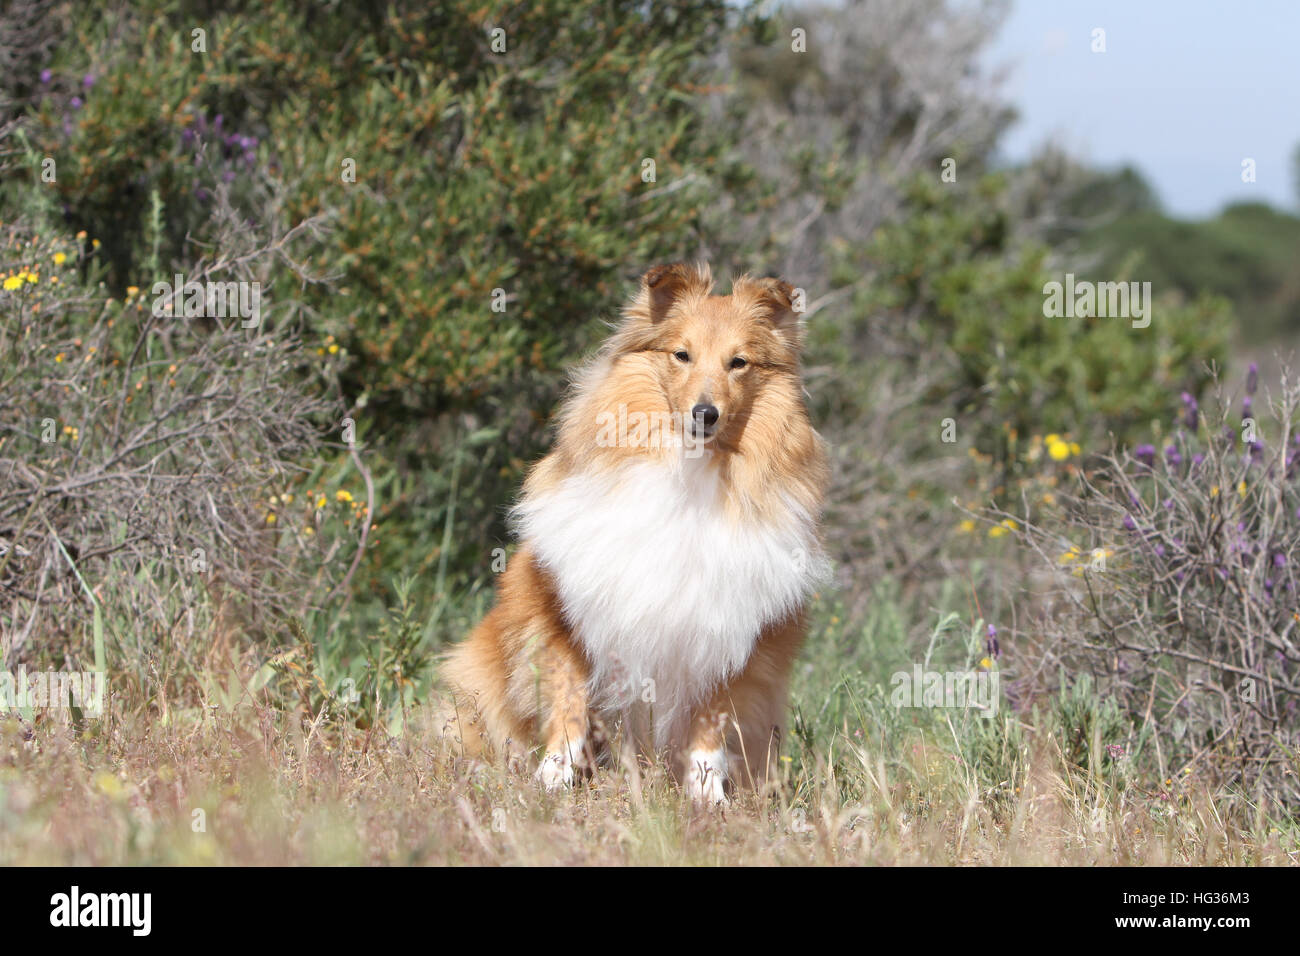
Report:
M 515 514 L 588 653 L 593 705 L 650 701 L 659 744 L 827 574 L 811 515 L 734 519 L 707 459 L 572 475 Z

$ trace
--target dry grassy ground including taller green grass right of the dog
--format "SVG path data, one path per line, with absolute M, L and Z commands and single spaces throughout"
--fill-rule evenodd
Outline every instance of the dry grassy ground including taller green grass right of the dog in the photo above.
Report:
M 653 765 L 572 792 L 458 758 L 432 706 L 378 727 L 265 693 L 162 705 L 114 692 L 79 727 L 8 719 L 3 864 L 1294 864 L 1287 823 L 1201 782 L 1101 760 L 1100 702 L 1030 714 L 889 705 L 902 618 L 824 607 L 794 688 L 783 786 L 693 810 Z M 890 623 L 892 622 L 892 623 Z M 923 649 L 959 663 L 976 628 Z M 945 663 L 946 662 L 946 663 Z M 240 679 L 256 672 L 243 665 Z M 160 706 L 161 705 L 161 706 Z

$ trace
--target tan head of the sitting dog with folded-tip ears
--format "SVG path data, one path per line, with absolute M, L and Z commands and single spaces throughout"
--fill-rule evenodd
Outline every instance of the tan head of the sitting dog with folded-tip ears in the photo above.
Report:
M 774 378 L 797 381 L 802 334 L 796 290 L 742 276 L 712 295 L 707 265 L 656 265 L 625 310 L 616 351 L 642 352 L 670 411 L 696 438 L 727 444 Z

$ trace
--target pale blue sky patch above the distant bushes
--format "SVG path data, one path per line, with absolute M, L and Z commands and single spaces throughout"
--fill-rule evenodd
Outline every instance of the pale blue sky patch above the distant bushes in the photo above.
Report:
M 1013 0 L 988 62 L 1010 68 L 1020 113 L 1008 160 L 1052 139 L 1093 165 L 1130 163 L 1187 219 L 1238 200 L 1296 206 L 1300 0 Z

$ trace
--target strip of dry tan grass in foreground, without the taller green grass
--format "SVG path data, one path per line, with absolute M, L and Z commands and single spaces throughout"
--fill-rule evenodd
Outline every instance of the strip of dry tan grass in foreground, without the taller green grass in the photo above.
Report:
M 697 813 L 655 770 L 550 795 L 467 766 L 429 730 L 302 730 L 252 708 L 25 741 L 5 727 L 0 860 L 42 864 L 1288 864 L 1295 834 L 1161 804 L 1066 767 L 1050 741 L 997 799 L 950 749 L 841 743 L 783 793 Z

